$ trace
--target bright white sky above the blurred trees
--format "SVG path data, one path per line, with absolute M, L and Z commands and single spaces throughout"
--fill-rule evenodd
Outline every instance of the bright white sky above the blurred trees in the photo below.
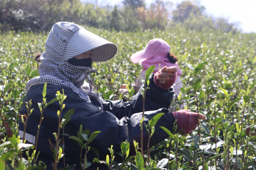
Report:
M 83 0 L 87 1 L 87 0 Z M 145 0 L 150 4 L 155 0 Z M 184 0 L 163 0 L 172 2 L 174 6 Z M 121 5 L 122 0 L 98 0 L 101 5 Z M 198 0 L 206 8 L 206 13 L 214 17 L 225 17 L 230 22 L 238 23 L 245 33 L 256 33 L 256 0 Z

